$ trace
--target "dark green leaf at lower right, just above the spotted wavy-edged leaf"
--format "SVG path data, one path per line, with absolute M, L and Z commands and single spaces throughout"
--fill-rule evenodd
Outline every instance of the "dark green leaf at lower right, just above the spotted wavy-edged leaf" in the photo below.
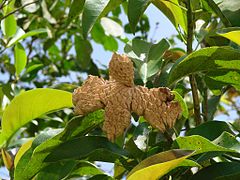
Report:
M 200 126 L 190 129 L 187 132 L 187 136 L 200 135 L 212 141 L 220 136 L 224 131 L 234 134 L 228 123 L 223 121 L 208 121 Z

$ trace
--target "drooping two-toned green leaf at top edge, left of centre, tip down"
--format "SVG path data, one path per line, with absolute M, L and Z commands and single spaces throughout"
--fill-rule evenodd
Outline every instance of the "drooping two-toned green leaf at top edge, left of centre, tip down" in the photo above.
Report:
M 118 7 L 123 0 L 86 0 L 82 15 L 83 37 L 86 38 L 93 25 L 108 12 Z

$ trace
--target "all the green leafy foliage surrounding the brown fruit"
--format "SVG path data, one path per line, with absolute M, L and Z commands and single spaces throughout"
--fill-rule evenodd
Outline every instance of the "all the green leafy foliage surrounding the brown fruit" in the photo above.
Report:
M 149 40 L 149 5 L 178 34 Z M 239 0 L 0 0 L 1 166 L 16 180 L 239 179 L 239 14 Z M 103 110 L 74 115 L 86 75 L 108 79 L 93 43 L 124 44 L 135 84 L 171 88 L 182 108 L 174 128 L 133 115 L 110 142 Z M 111 175 L 96 161 L 112 163 Z

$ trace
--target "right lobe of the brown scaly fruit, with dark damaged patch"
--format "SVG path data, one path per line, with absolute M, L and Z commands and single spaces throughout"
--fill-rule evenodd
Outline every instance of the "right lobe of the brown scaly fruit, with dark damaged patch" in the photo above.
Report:
M 136 86 L 132 99 L 132 111 L 143 116 L 153 127 L 164 132 L 172 128 L 181 113 L 178 102 L 168 88 L 148 89 Z

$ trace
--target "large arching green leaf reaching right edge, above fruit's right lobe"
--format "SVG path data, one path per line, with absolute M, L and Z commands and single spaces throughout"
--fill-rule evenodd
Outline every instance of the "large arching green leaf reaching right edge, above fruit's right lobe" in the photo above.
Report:
M 171 69 L 168 84 L 171 85 L 189 74 L 218 70 L 240 70 L 240 51 L 229 47 L 210 47 L 195 51 Z

